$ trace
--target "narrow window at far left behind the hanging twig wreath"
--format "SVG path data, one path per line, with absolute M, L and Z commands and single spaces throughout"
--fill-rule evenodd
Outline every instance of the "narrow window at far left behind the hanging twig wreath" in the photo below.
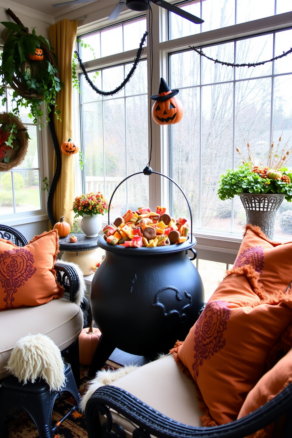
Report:
M 4 112 L 11 111 L 12 90 L 7 88 L 7 102 L 2 109 Z M 12 98 L 12 97 L 11 97 Z M 7 172 L 0 172 L 0 218 L 9 220 L 12 216 L 15 220 L 23 215 L 34 215 L 42 212 L 44 208 L 44 194 L 41 191 L 42 151 L 39 148 L 41 135 L 35 124 L 28 117 L 29 109 L 23 109 L 21 113 L 22 123 L 28 128 L 29 141 L 28 151 L 21 164 Z

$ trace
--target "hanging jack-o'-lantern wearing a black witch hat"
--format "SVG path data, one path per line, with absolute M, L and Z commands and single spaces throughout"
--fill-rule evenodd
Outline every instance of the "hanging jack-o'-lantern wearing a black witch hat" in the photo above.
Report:
M 174 96 L 179 90 L 171 90 L 163 78 L 160 79 L 158 95 L 151 96 L 156 102 L 152 106 L 152 117 L 158 125 L 174 125 L 183 118 L 183 104 Z

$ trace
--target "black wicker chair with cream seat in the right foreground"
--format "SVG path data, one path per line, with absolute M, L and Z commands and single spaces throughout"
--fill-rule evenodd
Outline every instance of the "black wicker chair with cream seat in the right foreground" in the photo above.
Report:
M 244 438 L 274 422 L 273 437 L 291 438 L 292 383 L 231 423 L 202 427 L 199 415 L 193 382 L 171 355 L 101 386 L 85 408 L 88 438 Z

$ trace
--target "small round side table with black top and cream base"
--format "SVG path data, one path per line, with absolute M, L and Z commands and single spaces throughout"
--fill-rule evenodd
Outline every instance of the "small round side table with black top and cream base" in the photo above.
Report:
M 77 242 L 71 243 L 70 237 L 77 237 Z M 60 251 L 63 251 L 61 260 L 76 263 L 84 276 L 93 273 L 92 266 L 102 260 L 105 251 L 97 244 L 99 236 L 86 237 L 84 233 L 70 233 L 66 237 L 59 238 Z

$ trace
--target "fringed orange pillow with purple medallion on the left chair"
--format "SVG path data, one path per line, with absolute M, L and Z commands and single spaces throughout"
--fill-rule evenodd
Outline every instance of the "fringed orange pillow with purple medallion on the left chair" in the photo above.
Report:
M 0 239 L 0 310 L 38 306 L 63 296 L 53 268 L 58 240 L 56 230 L 35 236 L 24 247 Z

